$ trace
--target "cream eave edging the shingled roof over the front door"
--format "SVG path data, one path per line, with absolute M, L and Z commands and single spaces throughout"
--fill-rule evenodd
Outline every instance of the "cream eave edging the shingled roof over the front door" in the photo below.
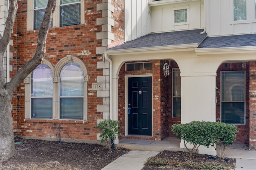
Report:
M 197 43 L 194 44 L 182 44 L 182 45 L 167 45 L 157 47 L 142 47 L 142 48 L 130 48 L 120 50 L 106 50 L 104 54 L 108 55 L 126 55 L 126 54 L 142 54 L 142 53 L 163 53 L 163 52 L 177 52 L 177 51 L 194 51 L 198 47 Z

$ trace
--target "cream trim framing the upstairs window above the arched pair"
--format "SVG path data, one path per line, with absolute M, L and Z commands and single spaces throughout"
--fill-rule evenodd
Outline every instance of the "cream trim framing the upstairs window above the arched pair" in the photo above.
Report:
M 52 16 L 52 27 L 60 27 L 60 0 L 57 0 L 54 14 Z M 84 1 L 81 0 L 81 23 L 84 24 Z M 32 18 L 32 19 L 31 19 Z M 72 25 L 71 25 L 72 26 Z M 65 26 L 64 26 L 65 27 Z M 34 31 L 34 0 L 28 0 L 27 31 Z

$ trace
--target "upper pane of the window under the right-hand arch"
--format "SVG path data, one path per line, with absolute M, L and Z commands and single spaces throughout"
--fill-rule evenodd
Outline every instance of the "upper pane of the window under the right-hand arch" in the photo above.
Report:
M 221 72 L 222 101 L 244 101 L 244 71 Z

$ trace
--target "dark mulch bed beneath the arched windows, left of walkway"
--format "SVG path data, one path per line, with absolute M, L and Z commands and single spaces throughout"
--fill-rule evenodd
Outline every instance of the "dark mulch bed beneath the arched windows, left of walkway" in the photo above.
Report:
M 128 149 L 108 148 L 98 144 L 63 143 L 16 138 L 14 156 L 0 165 L 0 170 L 100 170 L 127 153 Z M 22 156 L 23 155 L 23 156 Z

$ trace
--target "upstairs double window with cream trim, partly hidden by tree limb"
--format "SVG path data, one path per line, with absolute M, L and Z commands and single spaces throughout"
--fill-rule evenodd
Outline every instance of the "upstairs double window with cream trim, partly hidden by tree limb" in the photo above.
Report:
M 83 1 L 84 2 L 84 1 Z M 28 31 L 40 29 L 48 0 L 29 0 L 27 11 Z M 57 0 L 50 27 L 84 24 L 84 3 L 81 0 Z M 31 20 L 31 16 L 33 20 Z

